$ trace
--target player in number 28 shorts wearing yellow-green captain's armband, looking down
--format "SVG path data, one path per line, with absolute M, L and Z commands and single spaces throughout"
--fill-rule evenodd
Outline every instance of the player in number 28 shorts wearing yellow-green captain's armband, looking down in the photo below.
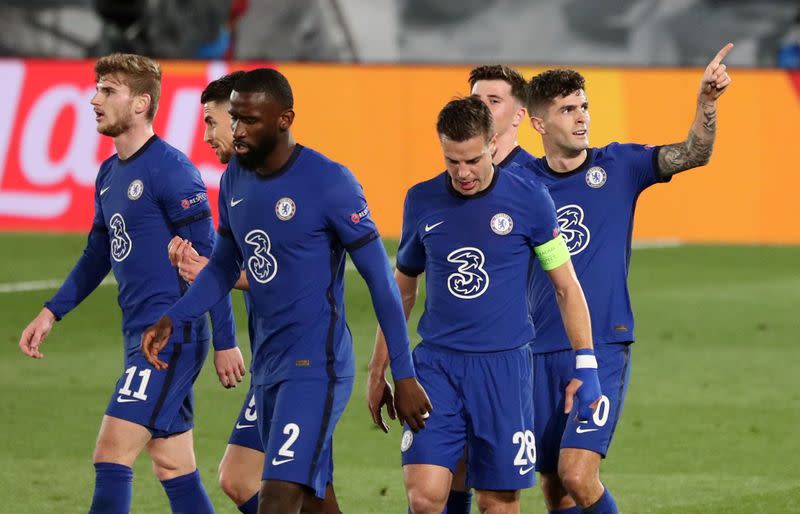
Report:
M 415 514 L 441 513 L 466 449 L 467 486 L 481 512 L 519 512 L 519 490 L 533 486 L 536 462 L 526 301 L 533 254 L 557 291 L 577 353 L 573 391 L 591 416 L 600 389 L 589 313 L 547 190 L 492 164 L 489 108 L 475 97 L 453 100 L 436 129 L 447 171 L 408 191 L 395 273 L 406 315 L 426 274 L 414 364 L 436 406 L 425 430 L 403 433 L 408 503 Z M 384 431 L 385 369 L 379 332 L 370 374 L 384 387 L 371 388 L 368 403 Z

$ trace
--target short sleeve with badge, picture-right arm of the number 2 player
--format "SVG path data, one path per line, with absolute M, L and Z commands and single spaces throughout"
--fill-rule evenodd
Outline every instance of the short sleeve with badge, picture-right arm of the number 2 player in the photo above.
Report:
M 344 167 L 334 172 L 339 176 L 328 188 L 325 217 L 344 248 L 353 252 L 380 236 L 361 184 Z

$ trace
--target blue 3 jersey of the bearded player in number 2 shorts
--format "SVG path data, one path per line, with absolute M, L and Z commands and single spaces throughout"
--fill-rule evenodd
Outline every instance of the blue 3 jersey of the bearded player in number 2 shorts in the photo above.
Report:
M 379 237 L 355 177 L 296 144 L 268 177 L 232 159 L 219 202 L 220 235 L 233 238 L 250 284 L 253 383 L 353 376 L 345 250 Z

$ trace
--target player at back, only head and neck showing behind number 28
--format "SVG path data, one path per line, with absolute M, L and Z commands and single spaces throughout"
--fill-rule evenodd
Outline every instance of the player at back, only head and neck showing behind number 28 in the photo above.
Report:
M 489 107 L 497 131 L 497 151 L 492 156 L 495 165 L 524 166 L 534 159 L 517 142 L 517 131 L 525 120 L 528 84 L 517 70 L 501 64 L 473 68 L 469 73 L 470 94 Z

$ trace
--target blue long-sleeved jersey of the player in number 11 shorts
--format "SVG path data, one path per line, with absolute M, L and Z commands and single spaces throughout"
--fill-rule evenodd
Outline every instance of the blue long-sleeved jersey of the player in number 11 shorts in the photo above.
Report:
M 100 166 L 95 182 L 95 216 L 84 257 L 47 307 L 61 317 L 110 268 L 119 287 L 123 331 L 132 334 L 152 325 L 188 287 L 167 258 L 167 244 L 189 226 L 196 247 L 208 255 L 215 234 L 206 188 L 183 153 L 152 136 L 129 158 L 110 157 Z M 220 309 L 214 318 L 215 336 L 225 339 L 221 341 L 225 347 L 235 346 L 230 299 L 215 308 Z M 229 325 L 218 327 L 217 321 Z M 208 339 L 203 316 L 178 327 L 171 340 Z

